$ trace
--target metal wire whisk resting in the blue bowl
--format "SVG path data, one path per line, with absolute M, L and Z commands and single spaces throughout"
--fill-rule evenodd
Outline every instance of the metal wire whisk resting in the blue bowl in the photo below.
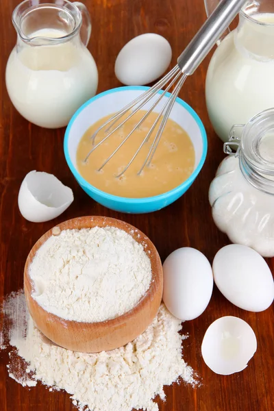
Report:
M 112 116 L 107 122 L 105 122 L 101 127 L 99 127 L 99 129 L 97 129 L 95 134 L 93 134 L 91 137 L 92 145 L 94 147 L 92 147 L 84 161 L 86 162 L 90 154 L 93 151 L 95 151 L 97 147 L 99 147 L 114 132 L 116 132 L 116 130 L 122 127 L 125 124 L 125 122 L 128 121 L 132 116 L 134 116 L 134 114 L 136 114 L 136 112 L 138 112 L 138 110 L 140 110 L 145 104 L 151 101 L 151 99 L 153 99 L 153 97 L 155 97 L 155 95 L 158 94 L 159 90 L 164 88 L 162 94 L 160 94 L 156 101 L 152 103 L 151 108 L 149 108 L 146 114 L 142 116 L 142 119 L 140 119 L 140 121 L 136 123 L 132 131 L 129 132 L 129 134 L 127 134 L 127 136 L 121 142 L 121 144 L 113 151 L 113 153 L 105 160 L 105 162 L 103 162 L 103 164 L 98 169 L 98 171 L 101 171 L 105 164 L 107 164 L 112 159 L 112 157 L 122 147 L 122 145 L 129 139 L 130 136 L 132 136 L 137 127 L 139 127 L 143 123 L 143 121 L 147 119 L 147 116 L 149 116 L 149 114 L 153 111 L 156 105 L 158 105 L 158 103 L 160 103 L 162 98 L 166 95 L 166 92 L 168 92 L 173 87 L 173 91 L 171 92 L 169 98 L 166 99 L 166 103 L 164 103 L 164 106 L 160 110 L 151 129 L 149 130 L 145 138 L 142 140 L 136 153 L 134 153 L 132 159 L 127 163 L 123 171 L 121 171 L 119 175 L 116 175 L 116 177 L 121 177 L 121 175 L 123 175 L 123 173 L 127 171 L 129 166 L 132 164 L 132 162 L 138 155 L 140 149 L 142 149 L 142 146 L 145 145 L 146 142 L 148 142 L 151 134 L 153 133 L 153 130 L 158 125 L 162 117 L 158 130 L 155 134 L 155 137 L 153 138 L 153 142 L 149 147 L 149 151 L 147 157 L 145 158 L 145 162 L 142 164 L 142 167 L 138 171 L 138 175 L 140 175 L 145 166 L 149 166 L 149 164 L 151 163 L 153 155 L 155 154 L 155 151 L 160 142 L 162 132 L 164 131 L 166 121 L 169 119 L 169 114 L 171 113 L 171 110 L 175 103 L 175 99 L 179 94 L 179 91 L 181 90 L 186 80 L 186 77 L 188 77 L 188 75 L 192 75 L 195 72 L 199 64 L 201 64 L 206 55 L 208 55 L 216 41 L 219 39 L 221 34 L 225 32 L 225 29 L 227 29 L 227 27 L 232 22 L 236 14 L 238 14 L 240 8 L 242 7 L 242 5 L 244 5 L 245 2 L 246 0 L 221 1 L 214 10 L 214 12 L 211 14 L 211 16 L 208 18 L 206 23 L 203 24 L 201 29 L 199 29 L 199 32 L 197 32 L 196 36 L 191 40 L 189 45 L 186 47 L 186 49 L 184 49 L 183 53 L 179 56 L 179 58 L 177 59 L 177 65 L 174 67 L 174 69 L 172 69 L 168 74 L 166 74 L 157 84 L 155 84 L 153 87 L 149 88 L 149 90 L 142 93 L 142 95 L 140 95 L 137 99 L 126 105 L 125 108 L 114 114 L 114 116 Z M 136 108 L 134 108 L 135 106 Z M 129 115 L 127 116 L 127 118 L 121 121 L 119 125 L 116 125 L 114 129 L 112 129 L 114 124 L 117 121 L 119 121 L 119 119 L 121 119 L 121 117 L 124 116 L 125 113 L 127 113 L 128 111 Z M 95 145 L 95 138 L 97 134 L 101 129 L 105 128 L 106 125 L 109 125 L 108 128 L 105 130 L 107 135 L 100 142 L 98 142 L 97 145 Z M 110 131 L 111 129 L 112 131 Z

